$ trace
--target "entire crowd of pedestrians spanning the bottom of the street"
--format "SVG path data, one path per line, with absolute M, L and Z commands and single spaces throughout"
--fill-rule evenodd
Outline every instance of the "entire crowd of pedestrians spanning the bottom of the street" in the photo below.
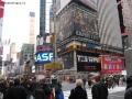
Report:
M 127 81 L 127 91 L 124 99 L 132 99 L 132 76 L 124 78 L 118 77 L 96 77 L 95 80 L 88 79 L 88 86 L 91 89 L 92 99 L 108 99 L 109 88 L 119 86 L 119 80 Z M 88 99 L 86 90 L 86 78 L 77 78 L 76 87 L 70 90 L 69 99 Z M 55 91 L 50 87 L 47 79 L 36 81 L 36 78 L 15 78 L 14 80 L 0 79 L 0 94 L 3 99 L 64 99 L 62 81 L 55 86 Z

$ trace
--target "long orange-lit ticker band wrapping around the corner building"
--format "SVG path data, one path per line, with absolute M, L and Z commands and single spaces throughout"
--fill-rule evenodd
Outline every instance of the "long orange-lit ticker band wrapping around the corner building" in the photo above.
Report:
M 89 51 L 89 52 L 100 53 L 100 54 L 111 54 L 111 55 L 117 55 L 117 56 L 123 56 L 123 54 L 120 54 L 120 53 L 105 51 L 105 50 L 99 50 L 99 48 L 91 48 L 91 47 L 81 46 L 81 45 L 68 46 L 68 47 L 57 52 L 57 54 L 59 55 L 59 54 L 63 54 L 65 52 L 69 52 L 69 51 L 73 51 L 73 50 L 82 50 L 82 51 Z

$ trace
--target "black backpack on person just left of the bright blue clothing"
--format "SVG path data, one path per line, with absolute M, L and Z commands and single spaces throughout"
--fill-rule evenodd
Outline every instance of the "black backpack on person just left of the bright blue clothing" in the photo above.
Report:
M 43 90 L 42 86 L 38 86 L 35 90 L 36 99 L 45 99 L 45 91 Z

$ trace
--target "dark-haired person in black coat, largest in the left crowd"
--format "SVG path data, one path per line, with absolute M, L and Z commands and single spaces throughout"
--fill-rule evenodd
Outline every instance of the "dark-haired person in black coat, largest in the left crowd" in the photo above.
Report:
M 14 86 L 9 89 L 10 99 L 26 99 L 26 90 L 20 86 L 20 79 L 14 79 Z

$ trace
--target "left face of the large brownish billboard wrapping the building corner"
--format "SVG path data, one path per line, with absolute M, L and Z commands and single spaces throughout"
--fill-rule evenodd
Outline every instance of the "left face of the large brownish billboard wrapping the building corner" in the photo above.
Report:
M 57 18 L 57 42 L 68 38 L 73 35 L 73 7 L 70 7 L 63 15 Z

